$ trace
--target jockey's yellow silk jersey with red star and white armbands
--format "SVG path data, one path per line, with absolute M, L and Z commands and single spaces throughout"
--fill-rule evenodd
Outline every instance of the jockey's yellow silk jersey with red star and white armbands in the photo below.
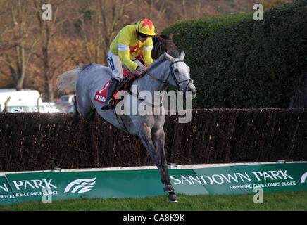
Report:
M 137 63 L 130 58 L 137 57 L 143 51 L 144 63 L 151 65 L 151 49 L 153 42 L 151 37 L 147 38 L 143 43 L 137 39 L 136 25 L 127 25 L 123 27 L 116 35 L 110 45 L 110 50 L 120 57 L 120 60 L 131 70 L 137 69 Z

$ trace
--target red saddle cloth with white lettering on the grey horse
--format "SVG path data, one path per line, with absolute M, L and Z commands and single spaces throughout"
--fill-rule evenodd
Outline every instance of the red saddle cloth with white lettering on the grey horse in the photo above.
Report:
M 125 89 L 130 89 L 130 86 L 134 79 L 137 79 L 139 76 L 131 75 L 129 71 L 123 70 L 123 79 L 118 83 L 115 93 L 113 94 L 113 98 L 115 98 L 118 91 L 123 91 Z M 108 91 L 108 86 L 111 82 L 111 79 L 104 84 L 103 88 L 96 91 L 94 101 L 98 101 L 99 103 L 104 103 L 106 101 L 106 93 Z M 120 101 L 120 99 L 115 98 L 116 103 Z

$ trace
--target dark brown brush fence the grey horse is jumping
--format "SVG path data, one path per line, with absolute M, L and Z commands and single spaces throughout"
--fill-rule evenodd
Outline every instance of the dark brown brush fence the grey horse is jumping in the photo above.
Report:
M 153 165 L 137 136 L 98 114 L 0 113 L 0 171 Z M 165 121 L 165 154 L 180 165 L 307 160 L 306 109 L 193 110 L 192 121 Z

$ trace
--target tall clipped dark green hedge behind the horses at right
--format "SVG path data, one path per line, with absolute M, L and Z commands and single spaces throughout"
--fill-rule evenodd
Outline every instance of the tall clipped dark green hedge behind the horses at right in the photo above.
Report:
M 193 108 L 287 108 L 306 75 L 307 1 L 171 25 L 198 90 Z

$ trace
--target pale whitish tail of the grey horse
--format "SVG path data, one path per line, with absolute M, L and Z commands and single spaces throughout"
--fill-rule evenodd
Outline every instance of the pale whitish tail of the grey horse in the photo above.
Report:
M 75 91 L 77 86 L 77 78 L 79 76 L 80 69 L 68 70 L 58 76 L 58 89 L 60 91 L 72 90 Z

